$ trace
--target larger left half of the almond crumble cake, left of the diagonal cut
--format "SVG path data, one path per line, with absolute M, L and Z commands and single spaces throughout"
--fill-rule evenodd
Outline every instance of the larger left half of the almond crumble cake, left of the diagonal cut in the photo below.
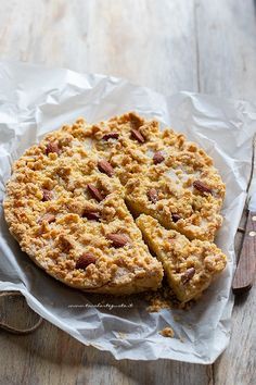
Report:
M 142 241 L 123 186 L 65 132 L 14 163 L 4 212 L 22 250 L 69 286 L 123 295 L 161 285 L 162 264 Z

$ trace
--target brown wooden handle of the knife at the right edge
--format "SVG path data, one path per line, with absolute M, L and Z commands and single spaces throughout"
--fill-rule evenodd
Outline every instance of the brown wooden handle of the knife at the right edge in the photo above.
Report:
M 248 212 L 243 245 L 232 289 L 234 294 L 244 293 L 251 289 L 256 268 L 256 212 Z

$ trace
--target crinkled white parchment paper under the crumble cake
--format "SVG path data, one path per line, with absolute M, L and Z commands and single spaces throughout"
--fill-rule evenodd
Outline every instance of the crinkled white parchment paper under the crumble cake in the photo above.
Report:
M 20 250 L 1 207 L 0 290 L 21 290 L 41 316 L 116 359 L 210 363 L 230 336 L 233 240 L 251 170 L 255 105 L 189 92 L 165 97 L 111 76 L 0 63 L 0 199 L 12 162 L 46 133 L 78 116 L 98 122 L 130 110 L 184 133 L 214 158 L 227 184 L 225 223 L 217 237 L 229 258 L 226 271 L 191 310 L 150 314 L 143 296 L 125 301 L 92 296 L 48 276 Z M 158 334 L 168 325 L 175 338 Z

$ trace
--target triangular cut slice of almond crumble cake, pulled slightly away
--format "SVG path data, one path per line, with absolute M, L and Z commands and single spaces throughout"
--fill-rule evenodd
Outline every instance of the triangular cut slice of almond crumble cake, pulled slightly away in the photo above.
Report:
M 165 229 L 150 215 L 142 214 L 136 222 L 181 302 L 197 298 L 225 269 L 227 257 L 215 244 L 190 241 L 176 231 Z

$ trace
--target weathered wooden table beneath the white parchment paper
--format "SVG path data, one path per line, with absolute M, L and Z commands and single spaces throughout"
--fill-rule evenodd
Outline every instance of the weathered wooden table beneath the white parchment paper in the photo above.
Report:
M 253 0 L 0 0 L 0 10 L 1 59 L 113 74 L 168 95 L 256 97 Z M 230 345 L 213 365 L 116 361 L 44 322 L 29 336 L 0 332 L 0 384 L 255 384 L 255 294 L 236 301 Z M 10 311 L 29 313 L 24 303 Z

